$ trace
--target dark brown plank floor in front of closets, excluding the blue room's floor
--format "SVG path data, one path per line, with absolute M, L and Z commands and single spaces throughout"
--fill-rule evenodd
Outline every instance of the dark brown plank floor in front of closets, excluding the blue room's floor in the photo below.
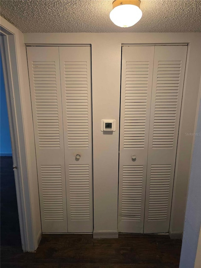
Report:
M 3 248 L 1 267 L 171 268 L 180 251 L 181 241 L 169 238 L 44 237 L 36 253 Z

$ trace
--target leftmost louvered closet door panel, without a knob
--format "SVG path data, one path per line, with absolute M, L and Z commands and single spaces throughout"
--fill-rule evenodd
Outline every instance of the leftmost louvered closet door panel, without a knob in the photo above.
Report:
M 58 47 L 27 47 L 42 232 L 67 232 Z

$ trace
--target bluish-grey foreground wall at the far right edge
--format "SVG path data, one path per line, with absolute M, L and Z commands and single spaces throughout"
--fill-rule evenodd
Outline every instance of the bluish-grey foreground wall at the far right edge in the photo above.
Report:
M 200 92 L 201 95 L 201 79 L 200 79 Z M 181 268 L 193 268 L 196 258 L 197 247 L 200 250 L 200 245 L 198 245 L 198 238 L 201 225 L 201 101 L 199 102 L 199 112 L 198 112 L 198 124 L 197 129 L 194 133 L 194 150 L 192 156 L 191 164 L 191 174 L 189 179 L 189 189 L 187 197 L 184 233 L 182 239 L 182 250 L 180 258 Z M 198 252 L 201 254 L 201 251 Z M 199 258 L 199 257 L 198 257 Z M 196 265 L 195 268 L 201 267 Z

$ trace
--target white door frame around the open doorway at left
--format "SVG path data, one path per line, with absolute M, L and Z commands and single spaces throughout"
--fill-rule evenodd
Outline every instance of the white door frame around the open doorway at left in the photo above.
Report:
M 15 34 L 1 26 L 1 54 L 22 249 L 35 251 Z

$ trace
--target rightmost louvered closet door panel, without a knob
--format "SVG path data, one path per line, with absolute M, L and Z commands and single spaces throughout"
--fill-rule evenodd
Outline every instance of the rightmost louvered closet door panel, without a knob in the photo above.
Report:
M 145 233 L 169 232 L 187 46 L 155 46 Z

